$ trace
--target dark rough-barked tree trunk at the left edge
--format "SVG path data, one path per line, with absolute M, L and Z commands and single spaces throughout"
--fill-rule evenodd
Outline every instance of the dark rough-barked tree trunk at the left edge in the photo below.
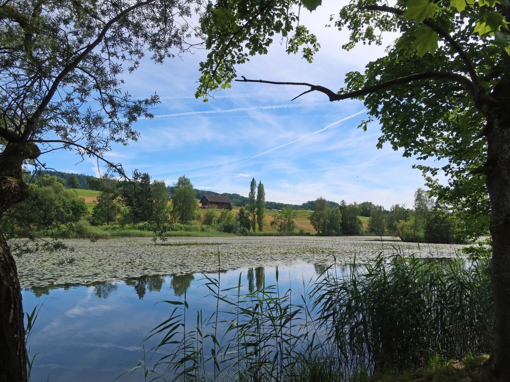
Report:
M 21 176 L 24 159 L 35 159 L 33 143 L 8 144 L 0 154 L 0 217 L 12 205 L 26 199 L 28 186 Z M 23 307 L 16 262 L 0 231 L 0 382 L 27 380 L 27 350 Z

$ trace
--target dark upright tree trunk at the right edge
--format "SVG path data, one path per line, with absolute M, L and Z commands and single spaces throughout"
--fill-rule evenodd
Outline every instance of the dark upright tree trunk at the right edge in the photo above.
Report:
M 492 289 L 494 301 L 493 376 L 510 380 L 510 113 L 489 115 L 487 189 L 491 200 L 493 240 Z M 505 110 L 506 109 L 506 110 Z

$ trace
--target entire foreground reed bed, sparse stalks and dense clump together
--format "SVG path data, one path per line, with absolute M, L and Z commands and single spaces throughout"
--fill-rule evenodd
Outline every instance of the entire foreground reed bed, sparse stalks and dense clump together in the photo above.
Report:
M 159 358 L 145 379 L 362 381 L 375 371 L 488 351 L 489 267 L 485 259 L 440 262 L 394 251 L 345 271 L 326 268 L 303 280 L 300 294 L 279 283 L 277 268 L 275 284 L 247 294 L 241 275 L 226 289 L 219 271 L 205 275 L 215 311 L 191 309 L 186 294 L 165 301 L 173 308 L 147 336 L 159 340 L 152 348 Z

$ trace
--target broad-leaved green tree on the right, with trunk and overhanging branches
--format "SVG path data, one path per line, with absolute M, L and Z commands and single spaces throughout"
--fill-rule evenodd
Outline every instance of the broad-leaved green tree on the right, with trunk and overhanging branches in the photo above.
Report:
M 316 38 L 299 24 L 301 5 L 321 0 L 218 0 L 202 18 L 211 49 L 201 64 L 197 96 L 227 88 L 235 66 L 265 54 L 277 33 L 288 51 L 302 47 L 311 61 Z M 493 240 L 493 375 L 510 379 L 510 6 L 508 0 L 350 0 L 330 19 L 350 37 L 342 45 L 381 44 L 384 32 L 398 37 L 386 55 L 364 71 L 349 72 L 343 88 L 297 82 L 301 78 L 237 79 L 304 87 L 299 96 L 321 92 L 330 101 L 362 99 L 369 118 L 382 131 L 378 147 L 389 142 L 404 156 L 444 158 L 442 168 L 420 166 L 441 203 L 468 223 L 489 223 Z M 298 25 L 298 26 L 296 26 Z M 297 97 L 296 97 L 297 98 Z M 434 177 L 444 172 L 447 185 Z M 472 234 L 476 230 L 471 229 Z

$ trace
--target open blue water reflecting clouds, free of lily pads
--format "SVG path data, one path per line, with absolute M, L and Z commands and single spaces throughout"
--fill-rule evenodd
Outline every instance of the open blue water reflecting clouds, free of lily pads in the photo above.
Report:
M 323 265 L 279 267 L 279 288 L 298 296 L 323 271 Z M 276 282 L 275 268 L 244 268 L 221 271 L 221 288 L 237 287 L 239 275 L 241 294 Z M 184 301 L 186 293 L 191 310 L 202 310 L 203 316 L 215 312 L 216 299 L 208 294 L 206 282 L 202 274 L 159 275 L 24 289 L 25 312 L 42 306 L 28 342 L 29 357 L 35 356 L 32 382 L 112 381 L 143 358 L 142 346 L 147 350 L 157 343 L 155 338 L 143 340 L 174 308 L 162 301 Z M 118 380 L 143 379 L 135 372 Z

